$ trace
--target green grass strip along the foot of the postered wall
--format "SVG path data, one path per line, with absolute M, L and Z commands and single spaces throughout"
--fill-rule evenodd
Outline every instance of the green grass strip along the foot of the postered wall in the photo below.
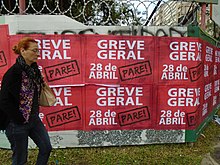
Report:
M 219 125 L 210 122 L 202 135 L 195 143 L 53 149 L 49 165 L 200 165 L 219 142 Z M 29 150 L 28 165 L 35 164 L 37 152 Z M 10 165 L 11 154 L 0 149 L 0 164 Z

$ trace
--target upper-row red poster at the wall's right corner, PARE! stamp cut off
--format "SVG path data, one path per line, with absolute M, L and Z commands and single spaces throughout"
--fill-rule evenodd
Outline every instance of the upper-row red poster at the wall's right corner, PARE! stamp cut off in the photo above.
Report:
M 182 37 L 161 37 L 158 40 L 158 82 L 160 84 L 201 82 L 204 72 L 201 40 Z

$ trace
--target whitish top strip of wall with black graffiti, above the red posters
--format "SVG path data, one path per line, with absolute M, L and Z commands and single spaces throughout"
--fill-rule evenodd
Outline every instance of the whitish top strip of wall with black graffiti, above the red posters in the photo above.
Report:
M 143 36 L 186 36 L 187 27 L 168 26 L 86 26 L 64 15 L 0 16 L 0 24 L 9 25 L 9 33 L 114 34 Z

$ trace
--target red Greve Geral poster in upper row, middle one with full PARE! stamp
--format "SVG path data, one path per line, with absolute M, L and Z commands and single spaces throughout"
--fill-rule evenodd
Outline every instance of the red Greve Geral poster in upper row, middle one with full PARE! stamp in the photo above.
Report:
M 152 84 L 155 37 L 87 36 L 86 83 Z

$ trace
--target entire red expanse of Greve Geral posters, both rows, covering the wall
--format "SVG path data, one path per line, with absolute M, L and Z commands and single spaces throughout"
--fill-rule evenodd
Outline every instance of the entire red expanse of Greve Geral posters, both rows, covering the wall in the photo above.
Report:
M 1 80 L 24 35 L 0 30 Z M 199 38 L 29 36 L 57 98 L 41 107 L 49 131 L 192 130 L 219 104 L 220 49 Z

